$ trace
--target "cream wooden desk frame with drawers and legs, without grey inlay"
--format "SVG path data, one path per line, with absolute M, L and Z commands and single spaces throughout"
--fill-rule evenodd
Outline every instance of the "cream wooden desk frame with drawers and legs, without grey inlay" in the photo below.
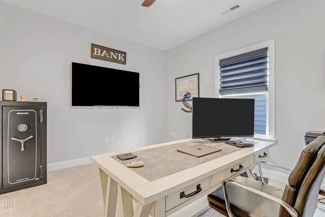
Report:
M 254 147 L 242 148 L 226 156 L 153 181 L 145 179 L 111 158 L 116 154 L 191 140 L 178 140 L 90 157 L 91 161 L 99 167 L 105 216 L 115 217 L 118 192 L 121 194 L 121 213 L 124 217 L 142 217 L 148 216 L 149 213 L 155 217 L 168 216 L 219 188 L 223 180 L 234 178 L 243 171 L 252 169 L 259 161 L 268 157 L 269 148 L 274 145 L 274 142 L 258 141 Z M 242 169 L 238 172 L 231 171 L 232 168 L 236 170 L 241 167 Z M 199 184 L 200 187 L 198 187 Z M 181 192 L 188 195 L 199 188 L 202 190 L 198 194 L 180 199 Z M 137 201 L 135 210 L 133 210 L 132 199 Z M 207 203 L 203 207 L 202 205 L 198 207 L 196 213 L 186 213 L 186 216 L 196 215 L 206 208 Z

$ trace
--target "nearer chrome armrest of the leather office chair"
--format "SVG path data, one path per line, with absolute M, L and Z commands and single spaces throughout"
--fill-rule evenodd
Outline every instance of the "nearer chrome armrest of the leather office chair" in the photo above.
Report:
M 261 192 L 261 191 L 258 191 L 256 189 L 253 189 L 253 188 L 250 188 L 244 184 L 241 184 L 241 183 L 238 183 L 236 181 L 233 181 L 233 180 L 229 180 L 229 181 L 224 181 L 222 183 L 222 188 L 223 188 L 223 194 L 224 194 L 224 201 L 225 201 L 225 205 L 226 205 L 226 208 L 227 208 L 227 211 L 228 211 L 228 214 L 229 214 L 229 217 L 235 217 L 235 214 L 233 213 L 233 211 L 231 210 L 230 208 L 230 203 L 229 203 L 229 199 L 228 199 L 228 194 L 227 194 L 227 191 L 226 191 L 226 182 L 232 182 L 233 184 L 236 184 L 238 187 L 241 187 L 247 191 L 250 191 L 250 192 L 253 192 L 257 195 L 260 195 L 262 197 L 265 197 L 265 198 L 268 198 L 274 202 L 277 202 L 279 203 L 281 206 L 283 206 L 287 211 L 288 213 L 293 216 L 293 217 L 298 217 L 298 212 L 292 207 L 290 206 L 288 203 L 284 202 L 283 200 L 279 199 L 279 198 L 276 198 L 272 195 L 269 195 L 269 194 L 266 194 L 264 192 Z

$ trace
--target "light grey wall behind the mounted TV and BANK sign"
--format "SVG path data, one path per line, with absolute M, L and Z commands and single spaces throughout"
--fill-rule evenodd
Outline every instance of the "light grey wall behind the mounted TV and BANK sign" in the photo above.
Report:
M 90 58 L 91 43 L 125 51 L 126 66 Z M 140 108 L 70 109 L 72 61 L 140 72 Z M 163 51 L 0 3 L 4 88 L 48 102 L 48 163 L 166 140 Z M 115 143 L 105 144 L 112 136 Z

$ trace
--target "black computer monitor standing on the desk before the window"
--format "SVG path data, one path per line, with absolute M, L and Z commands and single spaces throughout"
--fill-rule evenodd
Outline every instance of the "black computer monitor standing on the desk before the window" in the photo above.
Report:
M 254 101 L 193 98 L 192 138 L 253 137 Z

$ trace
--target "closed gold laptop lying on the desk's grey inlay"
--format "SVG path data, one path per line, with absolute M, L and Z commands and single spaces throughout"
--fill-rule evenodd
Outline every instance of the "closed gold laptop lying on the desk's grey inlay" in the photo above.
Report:
M 209 145 L 197 144 L 197 145 L 178 148 L 177 151 L 200 158 L 210 153 L 221 151 L 221 148 L 216 148 Z

